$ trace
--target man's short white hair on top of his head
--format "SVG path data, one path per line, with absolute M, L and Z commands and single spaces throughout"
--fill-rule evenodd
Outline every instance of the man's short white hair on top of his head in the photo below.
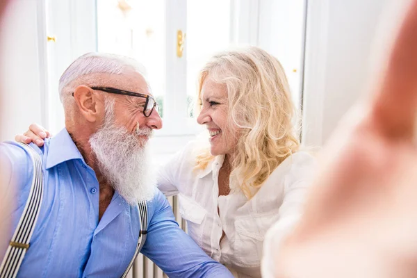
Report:
M 65 99 L 69 95 L 68 85 L 72 81 L 79 79 L 81 76 L 90 74 L 123 74 L 125 72 L 135 71 L 145 77 L 145 67 L 133 58 L 119 56 L 115 54 L 102 54 L 90 52 L 80 56 L 67 67 L 67 70 L 59 79 L 59 95 L 60 100 L 65 106 Z

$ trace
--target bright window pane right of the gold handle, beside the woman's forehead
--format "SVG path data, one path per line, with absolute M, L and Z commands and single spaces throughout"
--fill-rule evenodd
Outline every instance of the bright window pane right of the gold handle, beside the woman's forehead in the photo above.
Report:
M 197 78 L 208 58 L 229 47 L 230 0 L 187 1 L 187 95 L 193 116 Z

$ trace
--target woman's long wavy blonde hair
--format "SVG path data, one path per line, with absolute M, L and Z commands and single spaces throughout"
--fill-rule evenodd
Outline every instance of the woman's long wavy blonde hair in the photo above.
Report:
M 240 186 L 250 199 L 275 168 L 300 147 L 284 68 L 263 49 L 246 47 L 224 51 L 206 63 L 199 74 L 197 99 L 207 78 L 227 88 L 227 122 L 239 131 L 230 161 L 230 188 Z M 209 149 L 202 150 L 195 170 L 203 170 L 213 158 Z

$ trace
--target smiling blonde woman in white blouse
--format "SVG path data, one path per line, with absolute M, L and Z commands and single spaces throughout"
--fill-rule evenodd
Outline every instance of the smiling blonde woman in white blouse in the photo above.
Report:
M 281 237 L 291 231 L 316 164 L 299 151 L 284 69 L 257 47 L 225 51 L 201 71 L 198 99 L 209 145 L 190 142 L 173 156 L 158 188 L 179 195 L 188 234 L 209 256 L 236 277 L 261 277 L 265 233 L 275 223 Z

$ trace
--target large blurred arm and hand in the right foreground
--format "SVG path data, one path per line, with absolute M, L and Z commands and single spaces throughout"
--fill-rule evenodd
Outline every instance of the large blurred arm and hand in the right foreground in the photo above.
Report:
M 417 277 L 417 0 L 387 57 L 370 97 L 329 141 L 279 252 L 270 232 L 265 261 L 275 263 L 264 277 Z

